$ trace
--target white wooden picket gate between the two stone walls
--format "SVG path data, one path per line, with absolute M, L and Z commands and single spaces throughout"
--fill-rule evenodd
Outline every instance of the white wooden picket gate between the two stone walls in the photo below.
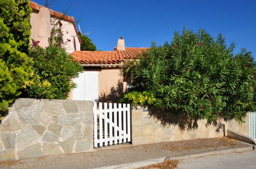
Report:
M 94 102 L 94 147 L 131 141 L 130 104 Z

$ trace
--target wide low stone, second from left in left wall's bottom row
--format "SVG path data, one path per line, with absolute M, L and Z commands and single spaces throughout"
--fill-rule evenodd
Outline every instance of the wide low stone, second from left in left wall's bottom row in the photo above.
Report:
M 19 159 L 25 159 L 25 158 L 33 158 L 33 157 L 42 157 L 43 152 L 41 150 L 41 144 L 35 143 L 33 145 L 30 145 L 26 147 L 24 150 L 19 151 L 18 153 Z

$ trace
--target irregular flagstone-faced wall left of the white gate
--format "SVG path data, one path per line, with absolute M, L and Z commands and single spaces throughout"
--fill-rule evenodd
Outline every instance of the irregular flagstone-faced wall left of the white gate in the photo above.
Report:
M 93 102 L 19 98 L 0 124 L 0 161 L 93 150 Z

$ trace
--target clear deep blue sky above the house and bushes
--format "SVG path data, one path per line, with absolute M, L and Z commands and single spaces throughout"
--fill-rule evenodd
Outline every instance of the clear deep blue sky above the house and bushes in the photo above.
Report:
M 228 45 L 237 44 L 235 52 L 245 47 L 256 58 L 255 0 L 58 0 L 50 8 L 62 12 L 69 6 L 67 14 L 80 20 L 83 33 L 90 31 L 97 50 L 112 51 L 120 35 L 126 47 L 150 47 L 151 41 L 162 45 L 186 26 L 215 37 L 221 33 Z

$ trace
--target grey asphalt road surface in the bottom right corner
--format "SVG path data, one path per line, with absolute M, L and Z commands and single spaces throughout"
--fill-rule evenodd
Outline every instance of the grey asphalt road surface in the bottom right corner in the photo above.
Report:
M 215 156 L 186 159 L 180 162 L 182 168 L 256 168 L 256 151 L 229 153 Z

